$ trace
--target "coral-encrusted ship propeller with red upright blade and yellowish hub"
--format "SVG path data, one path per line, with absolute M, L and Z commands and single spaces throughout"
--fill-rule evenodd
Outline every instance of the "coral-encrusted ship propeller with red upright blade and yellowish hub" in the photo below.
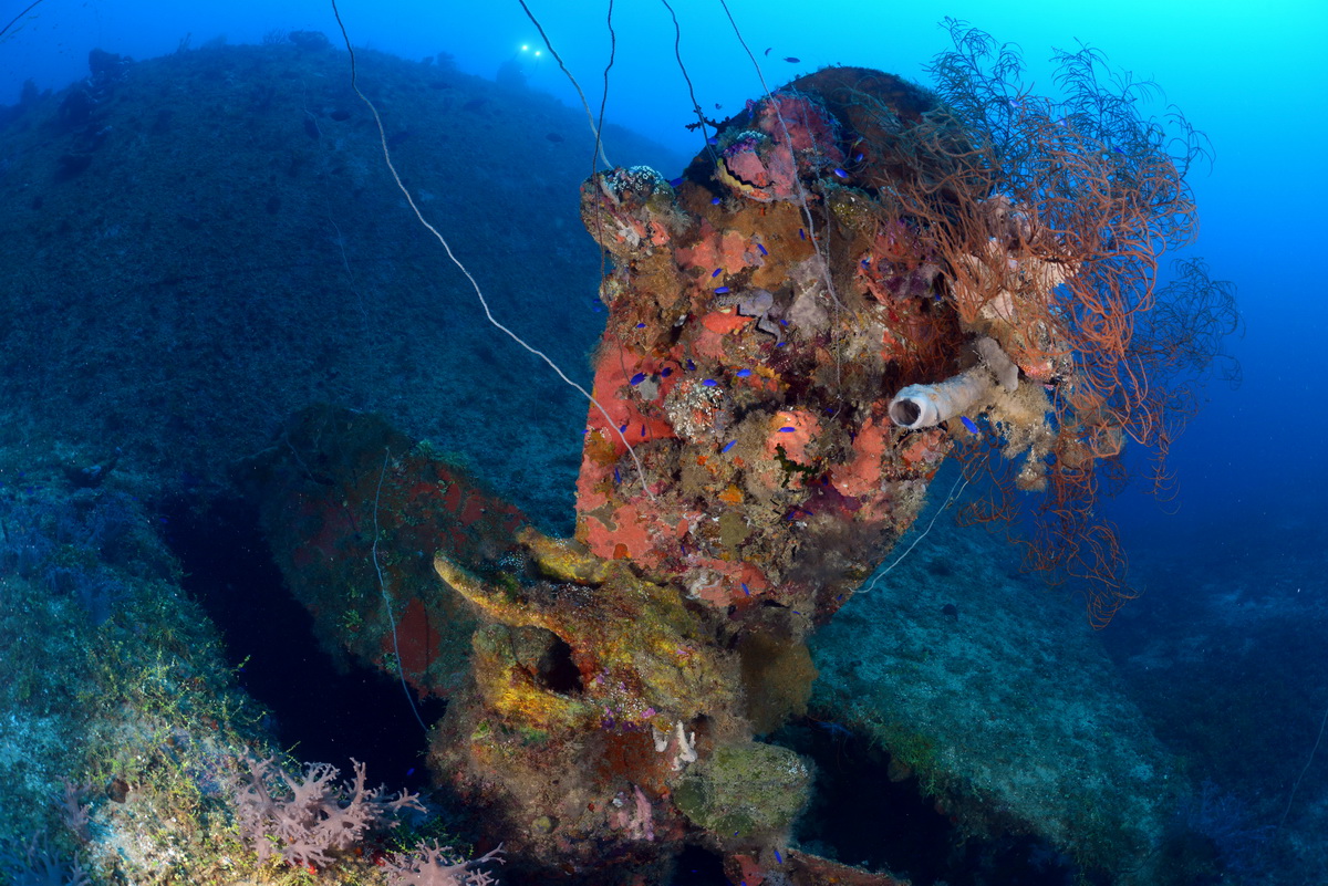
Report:
M 449 699 L 436 775 L 513 859 L 663 882 L 701 844 L 733 882 L 892 882 L 788 849 L 813 773 L 756 736 L 805 712 L 806 638 L 956 446 L 1054 493 L 1125 426 L 1058 306 L 1097 252 L 988 150 L 931 93 L 835 68 L 680 178 L 587 180 L 610 318 L 575 538 L 367 416 L 309 412 L 259 466 L 291 585 L 331 646 Z

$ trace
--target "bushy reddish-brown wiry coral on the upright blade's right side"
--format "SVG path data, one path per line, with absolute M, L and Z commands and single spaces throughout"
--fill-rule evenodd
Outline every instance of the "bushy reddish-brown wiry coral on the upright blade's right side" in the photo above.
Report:
M 1012 466 L 999 434 L 971 448 L 996 483 L 969 517 L 1009 520 L 1013 489 L 1042 492 L 1027 562 L 1076 580 L 1090 621 L 1105 625 L 1131 594 L 1114 529 L 1094 515 L 1101 480 L 1123 476 L 1118 456 L 1133 440 L 1163 491 L 1195 382 L 1238 374 L 1222 353 L 1238 328 L 1234 288 L 1194 260 L 1159 285 L 1162 255 L 1198 229 L 1186 176 L 1204 139 L 1174 107 L 1165 125 L 1145 117 L 1157 88 L 1112 73 L 1090 48 L 1057 53 L 1061 95 L 1046 98 L 1021 82 L 1011 46 L 948 24 L 955 49 L 931 66 L 946 103 L 892 143 L 900 175 L 879 184 L 915 251 L 942 268 L 961 328 L 1044 385 L 1058 428 L 1040 464 Z

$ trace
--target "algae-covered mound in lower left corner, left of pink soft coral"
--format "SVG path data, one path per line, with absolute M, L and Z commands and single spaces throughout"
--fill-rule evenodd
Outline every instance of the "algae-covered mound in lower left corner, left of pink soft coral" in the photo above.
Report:
M 39 834 L 96 882 L 254 873 L 228 784 L 266 747 L 262 711 L 151 516 L 114 480 L 28 477 L 0 492 L 3 553 L 23 554 L 0 577 L 0 838 Z

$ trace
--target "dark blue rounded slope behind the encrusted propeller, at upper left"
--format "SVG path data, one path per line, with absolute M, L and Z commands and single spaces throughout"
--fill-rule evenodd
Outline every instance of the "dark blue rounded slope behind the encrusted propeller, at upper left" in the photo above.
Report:
M 494 309 L 584 373 L 603 325 L 576 223 L 584 118 L 519 82 L 360 53 L 388 142 Z M 405 208 L 325 41 L 210 46 L 5 109 L 0 375 L 7 446 L 118 455 L 224 487 L 316 401 L 381 410 L 540 520 L 566 524 L 582 406 L 491 334 Z M 607 150 L 677 164 L 610 127 Z M 556 476 L 556 481 L 543 477 Z

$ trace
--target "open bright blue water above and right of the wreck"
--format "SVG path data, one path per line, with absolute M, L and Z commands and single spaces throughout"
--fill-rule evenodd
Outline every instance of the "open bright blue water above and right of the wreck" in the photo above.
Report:
M 16 13 L 21 5 L 7 8 Z M 718 3 L 677 0 L 671 5 L 681 25 L 683 60 L 708 115 L 726 117 L 762 92 Z M 1244 367 L 1244 383 L 1235 391 L 1210 387 L 1211 403 L 1174 447 L 1173 467 L 1183 483 L 1179 519 L 1129 495 L 1114 513 L 1127 541 L 1133 536 L 1159 544 L 1174 533 L 1189 538 L 1202 525 L 1208 542 L 1239 545 L 1251 524 L 1262 536 L 1268 521 L 1323 508 L 1328 395 L 1320 355 L 1328 332 L 1323 276 L 1328 176 L 1321 171 L 1321 146 L 1328 142 L 1328 50 L 1321 34 L 1328 28 L 1328 5 L 752 0 L 728 5 L 772 88 L 829 64 L 876 66 L 926 84 L 928 58 L 948 45 L 939 28 L 947 15 L 1017 44 L 1029 65 L 1028 80 L 1041 92 L 1054 89 L 1046 64 L 1052 49 L 1073 50 L 1076 41 L 1101 49 L 1137 78 L 1158 82 L 1165 101 L 1155 111 L 1163 114 L 1167 103 L 1175 103 L 1212 142 L 1211 171 L 1202 166 L 1193 175 L 1202 233 L 1190 253 L 1207 257 L 1214 277 L 1239 285 L 1246 333 L 1228 348 Z M 530 7 L 598 107 L 610 50 L 607 4 L 537 1 Z M 579 105 L 515 0 L 344 0 L 341 13 L 356 45 L 406 58 L 448 52 L 462 70 L 482 76 L 493 76 L 517 57 L 533 88 Z M 608 118 L 695 153 L 697 139 L 684 129 L 695 117 L 673 57 L 668 11 L 661 3 L 618 3 L 612 21 L 618 53 Z M 29 77 L 42 89 L 84 77 L 93 46 L 145 58 L 174 52 L 186 37 L 194 46 L 216 36 L 258 42 L 275 29 L 336 36 L 336 21 L 331 4 L 321 0 L 187 5 L 48 0 L 0 42 L 0 97 L 13 101 Z M 799 61 L 785 62 L 785 57 Z

